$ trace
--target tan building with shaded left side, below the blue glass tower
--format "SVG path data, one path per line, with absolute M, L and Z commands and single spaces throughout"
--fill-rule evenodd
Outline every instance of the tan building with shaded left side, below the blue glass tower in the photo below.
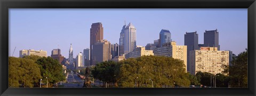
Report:
M 187 72 L 187 46 L 176 45 L 175 41 L 167 42 L 162 47 L 154 49 L 154 55 L 183 60 Z

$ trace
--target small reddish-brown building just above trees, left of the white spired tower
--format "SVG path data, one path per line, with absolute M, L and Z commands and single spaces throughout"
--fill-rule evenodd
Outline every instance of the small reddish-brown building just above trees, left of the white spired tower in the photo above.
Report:
M 60 49 L 53 49 L 51 57 L 57 59 L 59 64 L 65 65 L 65 57 L 60 54 Z

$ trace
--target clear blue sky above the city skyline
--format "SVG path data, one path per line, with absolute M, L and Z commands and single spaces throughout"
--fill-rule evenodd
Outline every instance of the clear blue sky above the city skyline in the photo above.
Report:
M 9 56 L 19 50 L 60 48 L 68 57 L 70 43 L 74 57 L 90 47 L 91 24 L 101 22 L 104 39 L 119 43 L 119 34 L 126 21 L 137 28 L 137 45 L 146 46 L 159 38 L 161 29 L 171 32 L 177 45 L 184 45 L 184 34 L 197 31 L 204 43 L 205 30 L 219 31 L 221 50 L 239 54 L 247 48 L 247 8 L 11 8 L 9 9 Z M 59 45 L 59 46 L 58 46 Z

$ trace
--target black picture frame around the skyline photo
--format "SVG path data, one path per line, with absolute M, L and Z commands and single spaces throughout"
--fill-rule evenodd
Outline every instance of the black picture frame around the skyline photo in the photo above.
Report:
M 1 95 L 255 95 L 255 0 L 0 0 L 0 7 Z M 8 88 L 9 8 L 247 8 L 248 88 Z

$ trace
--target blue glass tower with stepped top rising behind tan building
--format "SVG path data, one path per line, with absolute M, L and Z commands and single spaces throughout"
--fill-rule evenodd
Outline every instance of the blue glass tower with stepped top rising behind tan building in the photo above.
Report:
M 159 33 L 159 47 L 162 47 L 164 43 L 171 41 L 171 32 L 169 30 L 162 29 Z

